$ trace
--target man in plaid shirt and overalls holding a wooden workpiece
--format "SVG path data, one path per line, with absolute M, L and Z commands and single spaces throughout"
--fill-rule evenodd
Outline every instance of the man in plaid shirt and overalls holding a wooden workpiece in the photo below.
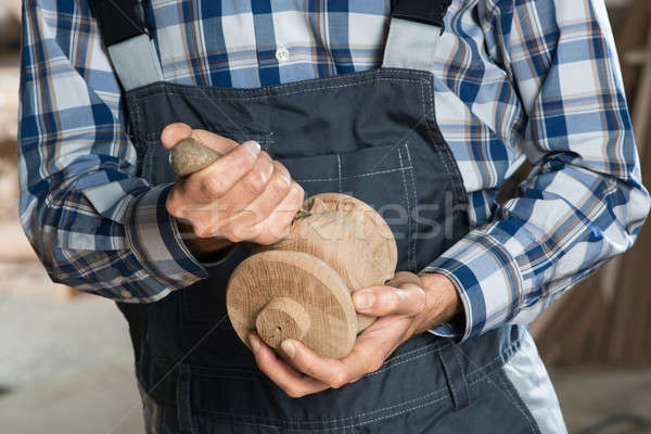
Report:
M 92 7 L 25 3 L 21 212 L 129 320 L 150 432 L 565 431 L 525 324 L 649 209 L 601 2 Z M 177 179 L 188 137 L 226 156 Z M 383 212 L 399 272 L 355 294 L 350 356 L 288 340 L 290 367 L 224 289 L 304 191 Z

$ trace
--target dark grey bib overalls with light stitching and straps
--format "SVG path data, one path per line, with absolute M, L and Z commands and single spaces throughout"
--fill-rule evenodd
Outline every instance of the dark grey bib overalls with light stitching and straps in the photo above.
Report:
M 144 30 L 125 26 L 112 2 L 94 3 L 125 89 L 140 176 L 152 184 L 175 181 L 159 137 L 183 122 L 258 141 L 307 195 L 344 192 L 373 206 L 396 237 L 398 270 L 422 270 L 469 231 L 467 193 L 434 115 L 445 107 L 434 106 L 426 71 L 447 1 L 394 9 L 382 68 L 259 89 L 165 82 Z M 139 18 L 135 2 L 116 3 Z M 424 333 L 356 383 L 290 398 L 258 371 L 226 315 L 226 283 L 246 255 L 240 245 L 208 279 L 150 305 L 119 306 L 138 380 L 158 408 L 153 432 L 539 432 L 501 370 L 524 333 L 511 326 L 462 345 Z

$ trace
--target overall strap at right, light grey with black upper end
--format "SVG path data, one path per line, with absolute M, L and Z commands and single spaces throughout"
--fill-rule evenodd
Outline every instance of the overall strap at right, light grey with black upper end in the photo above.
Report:
M 434 50 L 450 3 L 451 0 L 397 0 L 382 66 L 434 71 Z

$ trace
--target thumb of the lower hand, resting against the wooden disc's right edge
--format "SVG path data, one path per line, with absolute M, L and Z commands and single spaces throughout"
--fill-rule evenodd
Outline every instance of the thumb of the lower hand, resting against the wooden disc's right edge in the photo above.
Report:
M 425 308 L 425 292 L 413 283 L 404 283 L 401 288 L 371 286 L 353 294 L 358 312 L 376 317 L 418 315 Z

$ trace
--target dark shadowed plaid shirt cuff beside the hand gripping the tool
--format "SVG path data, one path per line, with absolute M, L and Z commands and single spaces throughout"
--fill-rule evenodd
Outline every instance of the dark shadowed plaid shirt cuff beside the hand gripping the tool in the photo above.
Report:
M 208 273 L 190 253 L 176 219 L 165 208 L 170 189 L 171 184 L 155 187 L 133 201 L 127 215 L 126 238 L 144 271 L 174 291 Z

